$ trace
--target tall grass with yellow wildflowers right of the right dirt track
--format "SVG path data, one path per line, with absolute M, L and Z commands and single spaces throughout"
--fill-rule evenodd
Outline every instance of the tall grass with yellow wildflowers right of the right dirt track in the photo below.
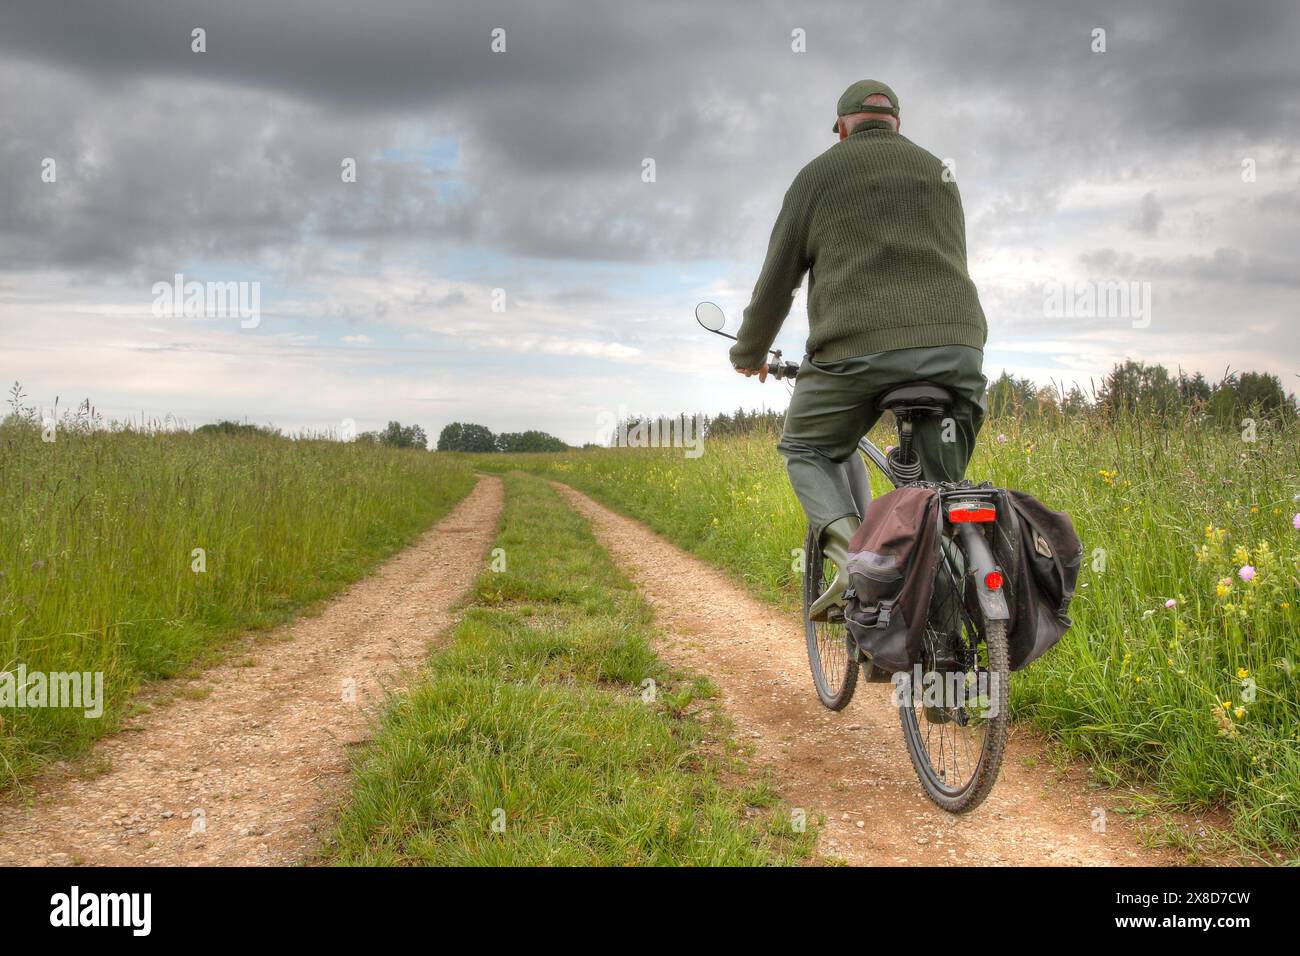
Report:
M 1084 541 L 1074 627 L 1015 675 L 1017 714 L 1102 779 L 1226 808 L 1242 844 L 1294 858 L 1300 427 L 1261 421 L 1251 437 L 1196 419 L 994 420 L 968 473 L 1069 511 Z M 645 520 L 793 610 L 803 516 L 775 441 L 707 442 L 694 460 L 667 449 L 508 460 Z

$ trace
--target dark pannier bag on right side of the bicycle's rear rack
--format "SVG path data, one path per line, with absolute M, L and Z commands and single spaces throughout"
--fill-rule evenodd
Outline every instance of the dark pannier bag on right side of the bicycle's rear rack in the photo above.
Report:
M 1004 489 L 993 531 L 1011 611 L 1006 640 L 1011 670 L 1041 657 L 1070 627 L 1083 545 L 1074 522 L 1024 492 Z

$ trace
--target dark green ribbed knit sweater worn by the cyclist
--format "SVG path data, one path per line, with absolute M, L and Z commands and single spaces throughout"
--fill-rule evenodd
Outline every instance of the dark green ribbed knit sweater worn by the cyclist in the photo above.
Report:
M 984 347 L 988 326 L 966 272 L 957 183 L 884 121 L 868 120 L 794 177 L 732 364 L 757 368 L 767 359 L 805 272 L 806 349 L 819 362 Z

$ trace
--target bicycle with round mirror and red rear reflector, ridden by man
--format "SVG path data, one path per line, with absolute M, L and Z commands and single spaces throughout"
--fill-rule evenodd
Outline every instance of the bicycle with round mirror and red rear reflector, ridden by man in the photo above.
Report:
M 701 302 L 696 320 L 708 332 L 734 341 L 734 336 L 722 330 L 725 316 L 716 304 Z M 771 355 L 763 369 L 766 376 L 793 381 L 798 364 L 783 362 L 779 350 Z M 862 436 L 858 450 L 894 488 L 920 481 L 920 458 L 913 447 L 914 423 L 923 415 L 944 415 L 952 401 L 952 394 L 933 382 L 892 389 L 878 406 L 893 414 L 898 445 L 887 453 Z M 846 462 L 845 477 L 858 512 L 864 516 L 871 492 L 861 462 L 857 457 Z M 968 813 L 993 788 L 1006 748 L 1010 614 L 1001 570 L 993 559 L 992 531 L 985 531 L 994 527 L 997 493 L 968 481 L 940 485 L 939 506 L 936 598 L 922 639 L 922 662 L 913 671 L 878 670 L 849 632 L 842 607 L 835 609 L 826 622 L 809 619 L 810 605 L 835 576 L 812 528 L 803 545 L 803 627 L 812 685 L 823 706 L 846 708 L 859 678 L 892 683 L 904 741 L 922 788 L 949 813 Z

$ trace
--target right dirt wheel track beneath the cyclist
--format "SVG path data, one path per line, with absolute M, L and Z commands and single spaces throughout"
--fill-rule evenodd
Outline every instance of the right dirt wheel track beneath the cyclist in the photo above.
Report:
M 1118 795 L 1056 774 L 1041 744 L 1013 730 L 992 796 L 953 817 L 920 791 L 904 748 L 889 684 L 858 685 L 841 713 L 822 708 L 809 676 L 802 626 L 746 594 L 720 571 L 645 525 L 556 484 L 628 570 L 667 631 L 660 652 L 707 674 L 741 739 L 796 808 L 826 816 L 819 851 L 852 864 L 1173 865 L 1141 848 L 1118 813 L 1093 832 L 1093 808 Z

